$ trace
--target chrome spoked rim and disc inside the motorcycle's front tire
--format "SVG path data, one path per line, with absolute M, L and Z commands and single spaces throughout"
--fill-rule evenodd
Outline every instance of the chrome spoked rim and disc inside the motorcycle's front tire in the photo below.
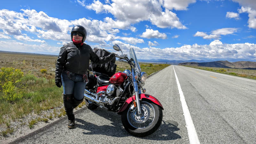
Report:
M 128 123 L 131 124 L 134 128 L 145 128 L 152 124 L 155 118 L 155 108 L 148 103 L 147 101 L 143 101 L 140 103 L 142 115 L 138 114 L 137 108 L 131 110 L 131 108 L 127 111 L 127 120 Z

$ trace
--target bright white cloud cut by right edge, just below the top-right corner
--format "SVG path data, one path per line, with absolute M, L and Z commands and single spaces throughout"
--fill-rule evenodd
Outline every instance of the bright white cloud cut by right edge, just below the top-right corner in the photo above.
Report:
M 255 3 L 255 1 L 254 1 Z M 252 8 L 250 7 L 241 7 L 241 9 L 238 10 L 239 13 L 249 13 L 248 16 L 249 16 L 249 19 L 248 19 L 248 27 L 249 28 L 254 28 L 256 29 L 256 10 L 253 10 Z

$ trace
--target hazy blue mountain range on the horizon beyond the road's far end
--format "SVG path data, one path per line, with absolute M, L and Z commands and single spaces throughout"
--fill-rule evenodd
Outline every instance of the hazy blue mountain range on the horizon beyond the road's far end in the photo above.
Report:
M 150 59 L 150 60 L 143 60 L 143 59 L 138 59 L 139 62 L 151 62 L 151 63 L 167 63 L 171 65 L 178 65 L 179 63 L 183 62 L 208 62 L 207 60 L 165 60 L 165 59 Z

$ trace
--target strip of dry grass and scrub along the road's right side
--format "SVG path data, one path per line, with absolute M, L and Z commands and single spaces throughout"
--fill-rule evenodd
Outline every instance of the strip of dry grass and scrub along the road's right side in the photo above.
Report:
M 231 76 L 239 76 L 256 80 L 256 70 L 251 69 L 237 69 L 237 68 L 213 68 L 213 67 L 195 67 L 195 66 L 185 66 L 190 68 L 203 69 L 207 71 L 227 74 Z

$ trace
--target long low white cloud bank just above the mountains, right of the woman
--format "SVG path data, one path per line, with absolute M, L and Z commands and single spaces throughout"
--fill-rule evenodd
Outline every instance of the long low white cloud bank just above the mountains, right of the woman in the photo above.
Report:
M 124 53 L 129 53 L 132 47 L 137 58 L 154 58 L 168 60 L 256 60 L 256 44 L 222 44 L 221 41 L 212 41 L 209 45 L 183 45 L 181 47 L 171 47 L 160 49 L 150 46 L 149 48 L 139 48 L 120 41 L 113 41 L 118 44 Z

